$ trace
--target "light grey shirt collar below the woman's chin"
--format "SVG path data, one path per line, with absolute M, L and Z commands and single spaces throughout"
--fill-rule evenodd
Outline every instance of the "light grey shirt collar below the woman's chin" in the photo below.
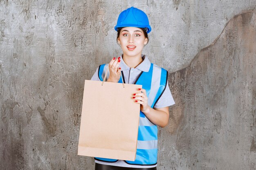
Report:
M 142 57 L 143 61 L 136 68 L 139 69 L 140 71 L 148 72 L 151 63 L 148 60 L 148 57 L 146 55 L 141 55 L 141 57 Z M 121 60 L 121 62 L 119 64 L 119 66 L 121 67 L 121 71 L 126 70 L 126 69 L 130 69 L 130 67 L 127 66 L 127 64 L 124 62 L 123 55 L 120 56 L 120 60 Z

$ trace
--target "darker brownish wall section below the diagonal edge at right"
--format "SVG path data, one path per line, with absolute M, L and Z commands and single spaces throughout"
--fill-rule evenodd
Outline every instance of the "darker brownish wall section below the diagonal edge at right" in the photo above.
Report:
M 169 79 L 176 105 L 160 133 L 160 167 L 255 170 L 256 10 L 232 18 Z

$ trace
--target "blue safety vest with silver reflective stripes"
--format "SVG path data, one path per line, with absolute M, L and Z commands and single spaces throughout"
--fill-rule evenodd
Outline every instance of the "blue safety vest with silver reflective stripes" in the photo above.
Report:
M 107 69 L 108 64 L 102 64 L 99 66 L 98 75 L 101 81 L 103 81 Z M 109 73 L 107 77 L 108 76 Z M 140 84 L 142 85 L 142 88 L 146 90 L 148 97 L 148 106 L 151 106 L 151 108 L 153 108 L 166 88 L 167 79 L 168 72 L 164 68 L 161 68 L 151 63 L 149 71 L 141 71 L 139 77 L 134 84 Z M 122 83 L 121 78 L 119 79 L 119 83 Z M 107 159 L 99 157 L 95 157 L 94 159 L 105 162 L 118 161 L 117 159 Z M 136 159 L 135 161 L 126 161 L 126 163 L 132 165 L 148 166 L 155 165 L 157 163 L 157 126 L 153 124 L 142 112 L 140 112 L 139 117 L 139 132 Z

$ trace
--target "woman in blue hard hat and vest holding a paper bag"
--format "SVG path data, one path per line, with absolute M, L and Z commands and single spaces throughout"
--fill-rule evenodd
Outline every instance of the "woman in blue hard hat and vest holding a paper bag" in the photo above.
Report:
M 91 80 L 102 81 L 109 70 L 107 82 L 122 82 L 122 74 L 124 83 L 142 85 L 140 93 L 131 94 L 141 110 L 137 152 L 135 161 L 95 158 L 95 170 L 156 170 L 157 126 L 168 124 L 169 106 L 175 104 L 168 87 L 168 73 L 141 54 L 151 31 L 146 13 L 134 7 L 124 10 L 115 30 L 123 54 L 99 66 Z

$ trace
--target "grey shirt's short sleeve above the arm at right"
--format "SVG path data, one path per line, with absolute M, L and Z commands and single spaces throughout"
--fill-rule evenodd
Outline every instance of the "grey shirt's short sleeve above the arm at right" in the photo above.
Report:
M 164 93 L 162 94 L 162 96 L 159 98 L 159 100 L 157 101 L 157 103 L 155 104 L 155 108 L 164 108 L 167 106 L 171 106 L 175 104 L 173 96 L 171 94 L 169 85 L 167 83 L 166 88 L 164 90 Z

